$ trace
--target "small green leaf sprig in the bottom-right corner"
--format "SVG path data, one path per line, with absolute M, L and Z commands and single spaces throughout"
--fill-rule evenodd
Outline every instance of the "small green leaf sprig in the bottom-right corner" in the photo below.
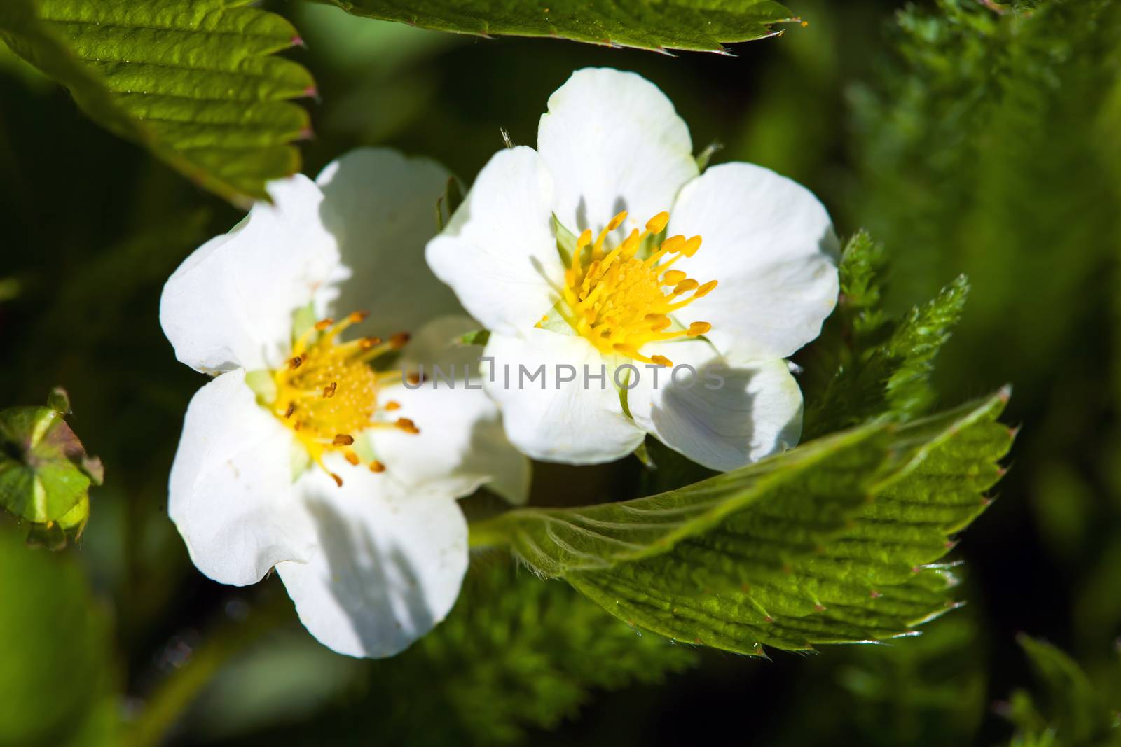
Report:
M 1043 688 L 1044 708 L 1025 690 L 1012 693 L 1006 712 L 1016 725 L 1013 747 L 1121 745 L 1121 716 L 1066 654 L 1045 641 L 1017 637 Z

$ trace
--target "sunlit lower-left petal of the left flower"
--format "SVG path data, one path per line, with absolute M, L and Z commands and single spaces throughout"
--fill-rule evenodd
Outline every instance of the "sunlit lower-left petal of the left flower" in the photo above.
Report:
M 172 465 L 167 512 L 191 559 L 222 583 L 259 581 L 307 560 L 315 535 L 291 483 L 291 433 L 231 371 L 191 400 Z

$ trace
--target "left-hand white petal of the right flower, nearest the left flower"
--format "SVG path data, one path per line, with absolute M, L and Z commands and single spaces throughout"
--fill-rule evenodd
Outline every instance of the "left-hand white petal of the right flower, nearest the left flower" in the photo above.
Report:
M 531 148 L 495 153 L 442 234 L 428 267 L 488 329 L 531 327 L 564 280 L 553 233 L 553 178 Z

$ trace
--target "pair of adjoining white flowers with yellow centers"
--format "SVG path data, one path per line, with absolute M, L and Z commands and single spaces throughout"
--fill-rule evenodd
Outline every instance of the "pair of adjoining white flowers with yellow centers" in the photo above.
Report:
M 392 655 L 447 615 L 469 561 L 456 498 L 525 501 L 527 456 L 609 461 L 649 433 L 728 470 L 798 440 L 785 358 L 837 296 L 821 203 L 749 164 L 702 174 L 631 73 L 574 73 L 537 146 L 497 153 L 438 235 L 442 167 L 352 151 L 270 185 L 165 288 L 176 356 L 213 376 L 170 516 L 203 573 L 275 569 L 341 653 Z M 441 365 L 465 385 L 420 385 Z M 511 367 L 534 384 L 495 375 Z

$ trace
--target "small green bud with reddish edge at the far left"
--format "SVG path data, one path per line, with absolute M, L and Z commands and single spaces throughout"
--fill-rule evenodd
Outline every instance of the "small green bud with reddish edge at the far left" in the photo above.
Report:
M 55 389 L 47 407 L 0 411 L 0 507 L 31 522 L 30 541 L 52 548 L 81 535 L 90 517 L 90 485 L 104 469 L 64 420 L 65 390 Z

